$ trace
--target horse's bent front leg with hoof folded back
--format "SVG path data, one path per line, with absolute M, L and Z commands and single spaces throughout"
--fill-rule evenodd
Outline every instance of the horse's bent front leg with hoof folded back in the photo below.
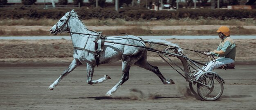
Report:
M 103 83 L 104 81 L 111 79 L 110 76 L 108 75 L 104 75 L 104 77 L 98 79 L 98 80 L 94 80 L 92 81 L 92 76 L 93 76 L 93 72 L 94 72 L 94 67 L 95 65 L 90 65 L 89 63 L 87 63 L 87 80 L 86 82 L 88 84 L 96 84 L 96 83 Z

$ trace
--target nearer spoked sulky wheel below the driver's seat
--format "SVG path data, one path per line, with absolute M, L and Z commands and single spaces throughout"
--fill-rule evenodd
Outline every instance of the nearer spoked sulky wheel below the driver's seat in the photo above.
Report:
M 221 79 L 212 74 L 207 74 L 199 79 L 197 85 L 198 95 L 206 101 L 215 101 L 223 93 L 223 83 Z

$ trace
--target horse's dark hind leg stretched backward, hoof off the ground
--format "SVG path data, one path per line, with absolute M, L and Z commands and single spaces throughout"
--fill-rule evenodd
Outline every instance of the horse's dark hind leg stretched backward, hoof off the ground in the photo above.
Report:
M 147 61 L 146 61 L 146 56 L 143 56 L 139 61 L 137 61 L 136 63 L 134 63 L 135 65 L 139 66 L 139 67 L 142 67 L 146 70 L 149 70 L 151 72 L 154 72 L 160 79 L 161 81 L 164 83 L 164 84 L 175 84 L 173 82 L 173 80 L 169 79 L 169 80 L 166 80 L 164 78 L 164 76 L 162 75 L 162 73 L 159 71 L 158 67 L 157 66 L 152 66 L 150 65 Z

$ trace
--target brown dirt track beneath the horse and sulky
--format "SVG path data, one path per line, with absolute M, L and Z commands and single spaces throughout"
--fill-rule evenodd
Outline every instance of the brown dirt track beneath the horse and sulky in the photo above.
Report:
M 157 65 L 159 66 L 159 65 Z M 100 65 L 94 79 L 108 74 L 112 79 L 96 85 L 86 83 L 85 66 L 66 76 L 53 91 L 49 85 L 67 66 L 0 67 L 1 110 L 255 110 L 256 65 L 236 65 L 235 70 L 215 70 L 225 80 L 224 92 L 217 101 L 200 101 L 185 97 L 188 85 L 169 66 L 159 70 L 175 85 L 163 85 L 159 78 L 132 66 L 129 80 L 112 97 L 104 95 L 121 78 L 121 66 Z M 130 89 L 143 92 L 132 93 Z

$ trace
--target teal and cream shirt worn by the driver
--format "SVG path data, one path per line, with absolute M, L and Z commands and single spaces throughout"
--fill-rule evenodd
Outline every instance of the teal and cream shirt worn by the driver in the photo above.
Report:
M 214 54 L 218 57 L 231 58 L 235 60 L 236 58 L 236 44 L 234 40 L 230 37 L 225 37 L 220 41 L 220 45 L 217 48 L 217 51 L 222 50 L 225 54 Z

